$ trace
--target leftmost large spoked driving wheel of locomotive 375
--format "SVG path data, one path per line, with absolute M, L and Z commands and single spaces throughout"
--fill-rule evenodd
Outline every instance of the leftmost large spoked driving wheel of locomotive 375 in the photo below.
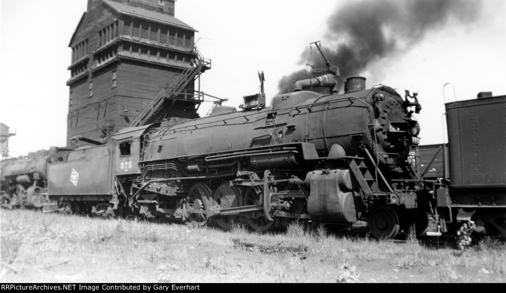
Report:
M 205 210 L 209 206 L 210 197 L 211 190 L 203 183 L 193 185 L 186 197 L 188 218 L 199 227 L 207 224 Z

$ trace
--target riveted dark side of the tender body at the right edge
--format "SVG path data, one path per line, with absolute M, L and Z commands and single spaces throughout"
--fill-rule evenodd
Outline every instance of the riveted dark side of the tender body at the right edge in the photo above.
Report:
M 447 104 L 452 186 L 506 186 L 506 96 Z

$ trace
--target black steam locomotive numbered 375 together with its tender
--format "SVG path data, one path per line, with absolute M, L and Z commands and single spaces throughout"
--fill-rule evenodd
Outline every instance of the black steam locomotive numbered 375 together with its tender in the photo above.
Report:
M 48 165 L 48 197 L 72 212 L 190 220 L 223 228 L 244 221 L 265 231 L 289 219 L 368 222 L 378 238 L 427 227 L 430 191 L 407 162 L 420 106 L 394 89 L 365 89 L 335 71 L 296 90 L 245 97 L 242 111 L 120 130 L 106 145 L 71 151 Z M 329 94 L 305 91 L 323 85 Z M 410 110 L 414 108 L 413 110 Z

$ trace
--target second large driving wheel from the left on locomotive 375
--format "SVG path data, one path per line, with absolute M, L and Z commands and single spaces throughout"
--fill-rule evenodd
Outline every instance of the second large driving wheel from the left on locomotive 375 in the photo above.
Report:
M 213 204 L 220 208 L 241 206 L 241 201 L 241 191 L 237 187 L 231 187 L 230 183 L 220 185 L 213 196 Z M 238 219 L 237 216 L 215 217 L 218 226 L 226 230 L 232 227 L 232 223 L 237 223 Z

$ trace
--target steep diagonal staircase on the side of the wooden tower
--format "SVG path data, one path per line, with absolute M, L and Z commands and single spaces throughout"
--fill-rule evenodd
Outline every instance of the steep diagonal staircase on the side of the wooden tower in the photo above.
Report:
M 208 65 L 210 65 L 210 61 L 200 58 L 200 56 L 195 59 L 195 66 L 185 69 L 171 86 L 168 86 L 168 82 L 165 83 L 160 92 L 148 103 L 130 126 L 138 127 L 146 124 L 159 111 L 166 98 L 181 95 L 190 82 L 203 70 L 207 69 Z M 167 93 L 166 96 L 163 95 L 165 91 Z

